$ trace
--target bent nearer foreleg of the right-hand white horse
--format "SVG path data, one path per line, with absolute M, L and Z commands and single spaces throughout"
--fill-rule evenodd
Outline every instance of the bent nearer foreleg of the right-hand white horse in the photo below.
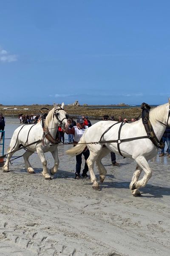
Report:
M 140 167 L 140 169 L 144 170 L 144 176 L 141 180 L 134 181 L 133 184 L 131 184 L 131 189 L 139 189 L 141 187 L 146 186 L 147 181 L 152 177 L 152 170 L 150 169 L 147 160 L 144 158 L 144 156 L 139 156 L 135 158 L 136 163 Z M 139 172 L 140 172 L 139 169 Z M 140 175 L 140 174 L 138 174 Z M 136 176 L 137 177 L 137 176 Z

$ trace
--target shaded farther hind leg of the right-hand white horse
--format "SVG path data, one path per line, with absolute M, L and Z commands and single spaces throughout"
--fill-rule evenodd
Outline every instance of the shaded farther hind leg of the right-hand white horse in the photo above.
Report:
M 102 164 L 102 158 L 105 157 L 110 152 L 111 151 L 108 148 L 104 147 L 104 148 L 102 148 L 102 151 L 100 152 L 98 158 L 96 159 L 96 165 L 97 165 L 97 168 L 99 170 L 99 180 L 102 183 L 105 180 L 105 176 L 106 176 L 106 173 L 107 173 L 107 170 L 105 169 L 105 167 Z

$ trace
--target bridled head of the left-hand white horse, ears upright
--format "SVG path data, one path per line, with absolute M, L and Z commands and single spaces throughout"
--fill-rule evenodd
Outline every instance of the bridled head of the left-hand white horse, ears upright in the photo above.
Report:
M 61 106 L 56 105 L 54 103 L 54 113 L 53 113 L 53 119 L 55 123 L 58 123 L 62 128 L 67 125 L 67 119 L 68 119 L 68 114 L 64 110 L 64 102 L 62 102 Z

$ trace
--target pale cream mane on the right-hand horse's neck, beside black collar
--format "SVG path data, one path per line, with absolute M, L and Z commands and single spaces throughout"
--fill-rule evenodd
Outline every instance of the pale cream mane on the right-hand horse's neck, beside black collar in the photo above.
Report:
M 167 103 L 153 108 L 149 113 L 149 120 L 152 124 L 156 125 L 156 121 L 162 119 L 162 116 L 167 114 Z

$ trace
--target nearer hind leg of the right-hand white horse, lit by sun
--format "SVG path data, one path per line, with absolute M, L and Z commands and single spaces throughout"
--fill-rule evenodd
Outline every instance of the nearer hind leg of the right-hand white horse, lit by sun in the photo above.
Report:
M 93 189 L 100 190 L 99 184 L 97 183 L 97 179 L 94 174 L 94 163 L 97 157 L 98 157 L 98 154 L 90 152 L 90 156 L 88 157 L 88 160 L 86 160 L 86 163 L 88 165 L 88 169 L 90 172 L 91 182 L 93 183 L 92 185 Z

